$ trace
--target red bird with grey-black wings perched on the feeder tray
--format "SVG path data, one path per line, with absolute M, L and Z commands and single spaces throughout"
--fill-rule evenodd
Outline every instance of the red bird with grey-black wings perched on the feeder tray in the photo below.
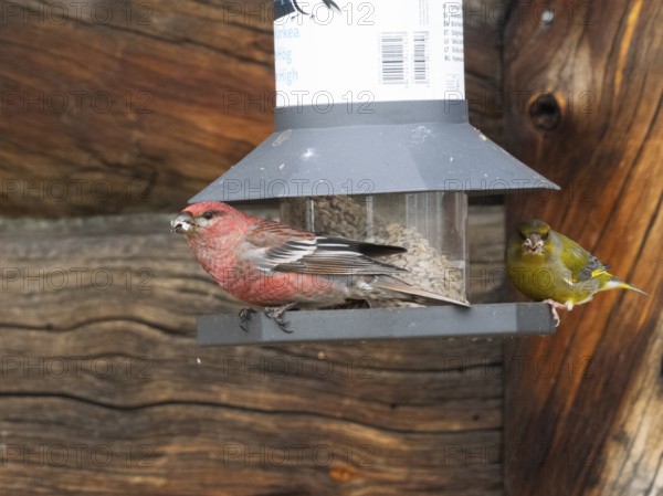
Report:
M 240 313 L 243 329 L 255 308 L 287 330 L 284 313 L 294 306 L 322 308 L 382 298 L 469 306 L 392 277 L 407 271 L 371 258 L 403 253 L 400 246 L 325 236 L 217 201 L 187 207 L 171 226 L 185 234 L 213 279 L 251 306 Z

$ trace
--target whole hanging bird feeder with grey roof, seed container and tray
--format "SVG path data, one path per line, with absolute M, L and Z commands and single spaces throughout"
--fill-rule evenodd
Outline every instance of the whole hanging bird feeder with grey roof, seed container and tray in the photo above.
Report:
M 190 202 L 278 200 L 282 222 L 408 249 L 406 282 L 467 299 L 467 197 L 558 189 L 469 124 L 462 3 L 276 0 L 275 130 Z M 389 263 L 392 263 L 389 261 Z M 201 316 L 203 345 L 547 334 L 545 304 Z

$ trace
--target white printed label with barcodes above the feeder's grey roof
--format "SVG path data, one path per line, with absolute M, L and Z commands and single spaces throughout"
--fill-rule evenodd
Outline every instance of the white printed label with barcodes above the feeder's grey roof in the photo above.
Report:
M 276 0 L 276 106 L 463 99 L 462 2 Z

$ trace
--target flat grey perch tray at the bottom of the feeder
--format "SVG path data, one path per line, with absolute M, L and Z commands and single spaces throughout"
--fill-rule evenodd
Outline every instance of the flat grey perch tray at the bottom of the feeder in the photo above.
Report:
M 202 346 L 273 345 L 311 341 L 365 341 L 371 339 L 518 337 L 550 335 L 555 319 L 545 303 L 501 303 L 423 308 L 302 310 L 287 314 L 288 328 L 259 313 L 249 330 L 240 328 L 236 314 L 198 317 Z

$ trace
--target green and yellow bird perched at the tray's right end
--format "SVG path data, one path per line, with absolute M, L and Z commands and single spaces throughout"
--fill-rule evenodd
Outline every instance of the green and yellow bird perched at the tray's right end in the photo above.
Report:
M 570 310 L 601 291 L 623 288 L 643 295 L 632 284 L 618 279 L 608 265 L 544 221 L 527 220 L 506 245 L 506 272 L 520 293 L 536 302 Z

